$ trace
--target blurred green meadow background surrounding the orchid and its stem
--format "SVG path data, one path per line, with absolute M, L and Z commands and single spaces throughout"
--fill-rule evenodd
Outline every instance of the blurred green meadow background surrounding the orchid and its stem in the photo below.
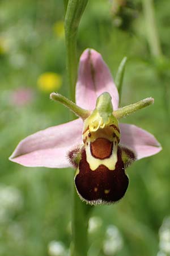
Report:
M 150 96 L 155 104 L 122 122 L 150 131 L 163 146 L 158 155 L 128 168 L 124 199 L 94 208 L 88 256 L 170 255 L 170 2 L 155 0 L 154 6 L 164 53 L 158 59 L 151 55 L 139 0 L 90 0 L 80 24 L 79 56 L 85 48 L 95 48 L 113 77 L 128 57 L 121 106 Z M 42 76 L 56 73 L 54 87 L 61 83 L 59 93 L 69 97 L 63 2 L 1 0 L 0 7 L 0 255 L 69 255 L 73 171 L 8 161 L 27 135 L 69 121 L 68 110 L 49 100 L 54 89 L 43 84 Z

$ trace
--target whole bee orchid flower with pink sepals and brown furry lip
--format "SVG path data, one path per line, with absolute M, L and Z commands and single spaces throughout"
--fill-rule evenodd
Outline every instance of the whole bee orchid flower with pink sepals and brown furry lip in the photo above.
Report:
M 118 108 L 118 90 L 100 53 L 86 49 L 79 62 L 74 102 L 57 93 L 50 98 L 78 119 L 23 139 L 10 160 L 27 167 L 74 167 L 75 187 L 88 204 L 120 200 L 128 188 L 126 167 L 162 148 L 154 135 L 118 119 L 154 102 L 152 98 Z

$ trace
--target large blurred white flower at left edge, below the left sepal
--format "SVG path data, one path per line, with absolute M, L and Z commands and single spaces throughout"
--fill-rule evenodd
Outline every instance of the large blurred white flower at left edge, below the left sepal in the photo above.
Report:
M 0 185 L 0 222 L 8 220 L 22 205 L 23 197 L 19 189 Z

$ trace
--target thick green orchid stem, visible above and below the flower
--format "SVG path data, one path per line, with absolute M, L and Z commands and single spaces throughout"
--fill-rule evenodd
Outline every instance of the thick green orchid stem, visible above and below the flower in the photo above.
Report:
M 65 3 L 66 2 L 67 1 L 65 0 Z M 67 76 L 70 86 L 70 98 L 73 102 L 75 101 L 75 84 L 78 69 L 76 36 L 80 19 L 87 2 L 88 0 L 69 0 L 67 2 L 67 10 L 65 15 Z M 87 228 L 89 219 L 88 213 L 90 209 L 91 207 L 80 201 L 74 187 L 72 214 L 73 246 L 71 246 L 71 256 L 87 256 Z

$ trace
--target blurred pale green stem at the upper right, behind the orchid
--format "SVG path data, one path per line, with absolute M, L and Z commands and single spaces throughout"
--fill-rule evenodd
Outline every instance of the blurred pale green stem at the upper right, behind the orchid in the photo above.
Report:
M 150 51 L 153 56 L 160 57 L 162 56 L 162 49 L 160 46 L 158 31 L 156 29 L 153 0 L 142 0 L 142 4 L 146 20 L 147 37 Z

